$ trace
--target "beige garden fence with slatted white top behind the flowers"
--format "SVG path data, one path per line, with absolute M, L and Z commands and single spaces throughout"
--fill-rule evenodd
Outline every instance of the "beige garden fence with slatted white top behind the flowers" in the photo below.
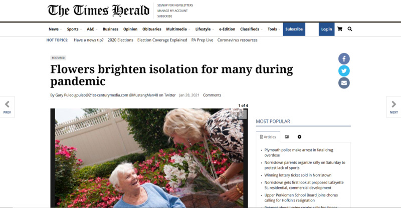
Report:
M 83 166 L 108 161 L 128 153 L 143 152 L 129 134 L 120 109 L 101 109 L 77 119 L 56 124 L 56 139 L 74 146 Z

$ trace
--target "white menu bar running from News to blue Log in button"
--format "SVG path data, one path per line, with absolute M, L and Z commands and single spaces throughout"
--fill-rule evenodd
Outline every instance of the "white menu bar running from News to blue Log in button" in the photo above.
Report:
M 1 36 L 27 31 L 30 36 L 401 36 L 401 23 L 3 23 Z

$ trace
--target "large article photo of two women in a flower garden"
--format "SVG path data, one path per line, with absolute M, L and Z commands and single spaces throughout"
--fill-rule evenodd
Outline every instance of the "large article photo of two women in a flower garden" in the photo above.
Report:
M 247 207 L 248 109 L 51 112 L 56 207 Z

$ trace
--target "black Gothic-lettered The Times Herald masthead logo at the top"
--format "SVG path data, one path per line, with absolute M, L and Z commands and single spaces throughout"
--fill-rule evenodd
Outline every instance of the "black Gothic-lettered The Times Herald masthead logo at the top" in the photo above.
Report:
M 139 7 L 123 7 L 120 4 L 115 4 L 111 6 L 114 15 L 148 15 L 149 8 L 145 5 L 140 5 Z M 49 13 L 51 15 L 69 15 L 70 8 L 63 7 L 62 5 L 49 5 Z M 96 8 L 87 7 L 87 5 L 75 5 L 73 6 L 73 11 L 76 15 L 107 15 L 109 14 L 109 7 Z

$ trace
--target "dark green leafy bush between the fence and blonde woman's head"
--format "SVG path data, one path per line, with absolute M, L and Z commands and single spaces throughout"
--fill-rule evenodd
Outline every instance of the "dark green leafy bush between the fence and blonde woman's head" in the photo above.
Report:
M 164 117 L 171 109 L 124 109 L 122 118 L 129 125 L 130 134 L 147 154 L 173 146 L 163 132 Z M 215 113 L 220 109 L 205 109 Z

